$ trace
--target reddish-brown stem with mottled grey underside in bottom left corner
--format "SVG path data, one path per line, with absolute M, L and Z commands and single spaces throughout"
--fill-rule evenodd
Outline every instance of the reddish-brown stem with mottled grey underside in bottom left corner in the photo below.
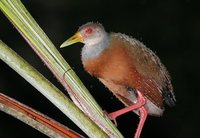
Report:
M 81 138 L 83 136 L 39 113 L 38 111 L 0 93 L 0 110 L 12 115 L 43 134 L 53 138 Z

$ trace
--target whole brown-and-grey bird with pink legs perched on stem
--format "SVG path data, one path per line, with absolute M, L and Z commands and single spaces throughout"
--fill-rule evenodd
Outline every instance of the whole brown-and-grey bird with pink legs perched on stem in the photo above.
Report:
M 159 57 L 139 40 L 123 33 L 108 33 L 100 23 L 88 22 L 60 48 L 83 43 L 84 69 L 97 77 L 125 107 L 109 113 L 111 120 L 133 111 L 140 117 L 139 138 L 148 115 L 161 116 L 165 105 L 175 106 L 171 77 Z

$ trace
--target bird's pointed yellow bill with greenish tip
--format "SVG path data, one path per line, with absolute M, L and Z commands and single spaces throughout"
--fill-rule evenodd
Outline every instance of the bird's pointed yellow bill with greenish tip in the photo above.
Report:
M 81 35 L 80 32 L 77 32 L 75 35 L 67 39 L 61 46 L 60 48 L 72 45 L 77 42 L 81 42 L 83 40 L 83 36 Z

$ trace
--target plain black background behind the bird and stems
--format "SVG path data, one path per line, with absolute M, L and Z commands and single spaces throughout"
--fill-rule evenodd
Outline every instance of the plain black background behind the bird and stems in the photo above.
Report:
M 157 53 L 172 76 L 177 106 L 166 108 L 160 118 L 148 117 L 142 138 L 198 138 L 200 8 L 192 0 L 23 0 L 29 12 L 52 42 L 59 45 L 88 21 L 98 21 L 108 32 L 131 35 Z M 24 57 L 62 91 L 13 25 L 0 12 L 0 39 Z M 123 107 L 118 100 L 82 67 L 82 44 L 59 49 L 92 95 L 107 112 Z M 0 61 L 0 91 L 81 132 L 67 117 L 17 73 Z M 125 137 L 133 137 L 138 116 L 127 113 L 117 119 Z M 37 137 L 45 135 L 0 112 L 0 137 Z

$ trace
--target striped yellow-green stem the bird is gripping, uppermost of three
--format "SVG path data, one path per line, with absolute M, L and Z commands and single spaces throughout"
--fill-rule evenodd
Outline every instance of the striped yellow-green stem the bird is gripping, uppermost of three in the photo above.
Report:
M 123 137 L 20 0 L 0 0 L 0 9 L 68 91 L 74 103 L 110 137 Z

